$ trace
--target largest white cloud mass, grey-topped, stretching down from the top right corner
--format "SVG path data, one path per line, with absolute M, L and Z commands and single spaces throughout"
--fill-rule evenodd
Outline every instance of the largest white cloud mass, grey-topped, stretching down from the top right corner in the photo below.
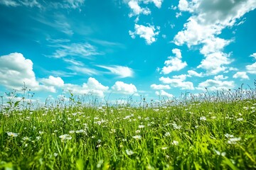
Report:
M 256 8 L 256 1 L 186 1 L 180 0 L 178 4 L 180 11 L 188 11 L 192 14 L 188 22 L 184 24 L 183 30 L 179 31 L 174 38 L 176 45 L 186 44 L 203 45 L 201 54 L 206 59 L 201 62 L 199 68 L 206 69 L 208 74 L 218 74 L 225 71 L 232 61 L 229 55 L 223 52 L 223 48 L 230 44 L 232 40 L 218 38 L 222 30 L 228 26 L 234 26 L 245 13 Z M 215 68 L 211 67 L 209 62 L 215 61 L 215 58 L 221 58 Z M 214 62 L 213 62 L 214 63 Z

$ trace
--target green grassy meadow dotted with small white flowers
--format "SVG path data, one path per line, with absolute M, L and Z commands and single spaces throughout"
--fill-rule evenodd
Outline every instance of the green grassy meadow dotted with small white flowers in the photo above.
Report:
M 256 169 L 255 92 L 103 106 L 70 94 L 36 108 L 13 93 L 0 169 Z

